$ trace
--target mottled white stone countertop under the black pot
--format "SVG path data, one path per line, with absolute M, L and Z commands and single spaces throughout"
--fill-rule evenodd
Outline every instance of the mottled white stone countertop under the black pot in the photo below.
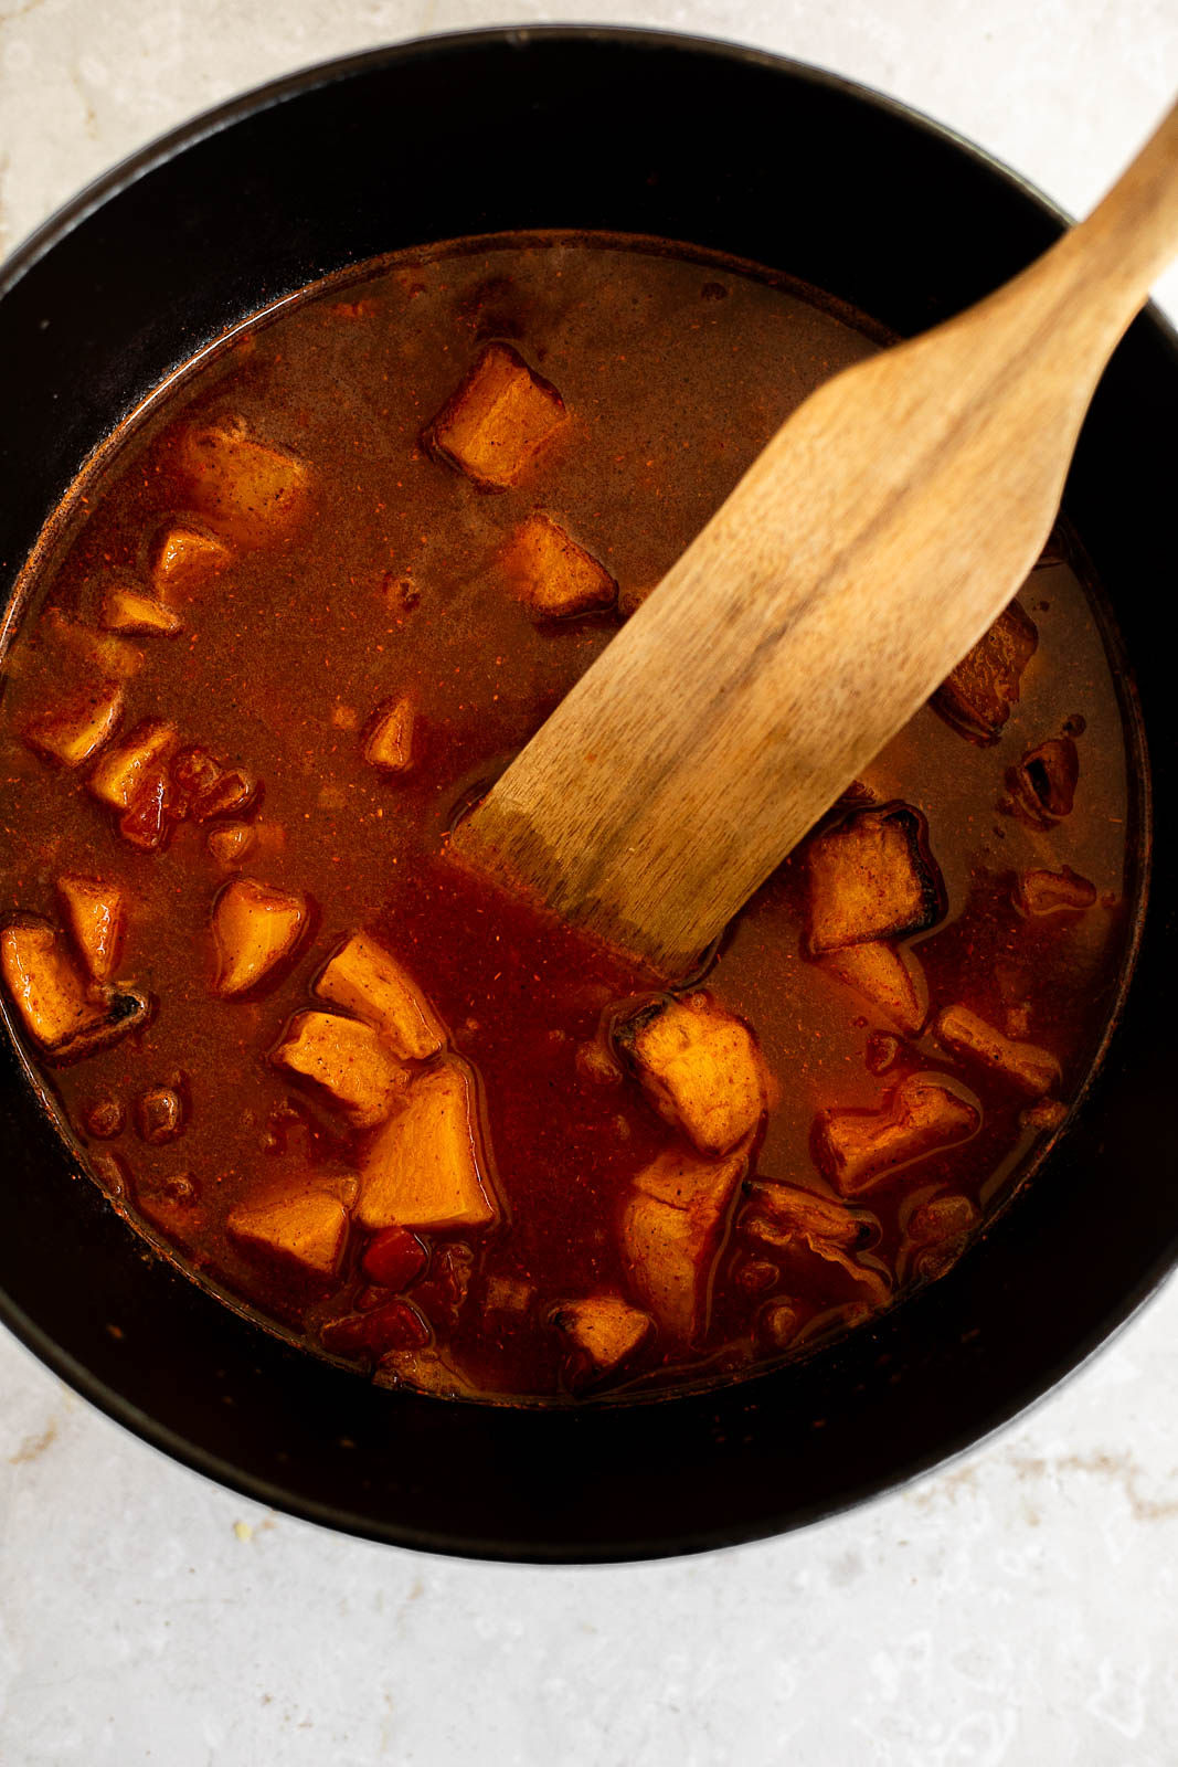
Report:
M 1070 210 L 1178 87 L 1176 0 L 0 0 L 0 254 L 150 136 L 323 57 L 500 21 L 781 49 Z M 1159 288 L 1178 313 L 1178 272 Z M 4 1767 L 1173 1767 L 1178 1286 L 952 1470 L 673 1564 L 532 1571 L 207 1484 L 0 1332 Z

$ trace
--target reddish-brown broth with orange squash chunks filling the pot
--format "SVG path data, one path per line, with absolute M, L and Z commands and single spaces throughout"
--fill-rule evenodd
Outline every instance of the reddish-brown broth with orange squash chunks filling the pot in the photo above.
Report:
M 692 988 L 447 853 L 878 337 L 685 247 L 468 240 L 237 332 L 67 500 L 7 664 L 7 1004 L 231 1304 L 433 1392 L 733 1375 L 945 1272 L 1056 1131 L 1129 921 L 1065 541 Z

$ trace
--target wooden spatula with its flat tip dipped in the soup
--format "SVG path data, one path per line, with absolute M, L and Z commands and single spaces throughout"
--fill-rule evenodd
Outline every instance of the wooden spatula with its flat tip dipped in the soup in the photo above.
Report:
M 1019 588 L 1174 251 L 1178 106 L 1028 270 L 795 412 L 459 853 L 687 974 Z

